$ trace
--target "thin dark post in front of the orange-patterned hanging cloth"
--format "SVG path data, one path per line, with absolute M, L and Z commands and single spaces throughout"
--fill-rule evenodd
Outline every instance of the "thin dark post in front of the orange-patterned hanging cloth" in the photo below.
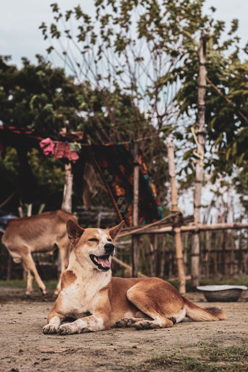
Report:
M 139 199 L 139 153 L 138 142 L 133 143 L 133 210 L 132 225 L 138 225 L 138 199 Z M 132 236 L 132 276 L 138 277 L 138 236 Z

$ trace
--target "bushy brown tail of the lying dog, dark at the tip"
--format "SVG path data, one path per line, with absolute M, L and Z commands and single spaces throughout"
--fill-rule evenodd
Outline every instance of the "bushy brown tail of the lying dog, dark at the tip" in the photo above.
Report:
M 183 297 L 183 296 L 182 296 Z M 218 308 L 205 308 L 201 309 L 199 306 L 194 305 L 183 297 L 186 316 L 194 321 L 212 321 L 212 320 L 224 320 L 227 318 L 226 313 Z

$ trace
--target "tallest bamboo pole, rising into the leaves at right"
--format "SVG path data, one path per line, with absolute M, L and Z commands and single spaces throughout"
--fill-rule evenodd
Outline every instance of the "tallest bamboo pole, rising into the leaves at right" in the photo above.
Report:
M 203 156 L 205 145 L 205 93 L 206 93 L 206 50 L 205 35 L 201 31 L 199 49 L 199 88 L 198 88 L 198 114 L 197 114 L 197 163 L 195 167 L 194 181 L 194 223 L 200 223 L 201 207 L 201 188 L 203 181 Z M 191 249 L 191 280 L 192 290 L 199 285 L 199 265 L 200 265 L 200 242 L 199 233 L 192 234 Z

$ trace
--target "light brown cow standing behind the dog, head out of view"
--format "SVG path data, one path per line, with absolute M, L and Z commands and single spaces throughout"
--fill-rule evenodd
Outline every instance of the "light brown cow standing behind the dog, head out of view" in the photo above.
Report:
M 2 236 L 2 243 L 8 249 L 14 262 L 23 261 L 27 272 L 26 295 L 32 292 L 32 279 L 35 278 L 40 290 L 45 295 L 46 286 L 36 269 L 31 253 L 50 252 L 58 246 L 61 257 L 61 272 L 68 266 L 70 242 L 66 233 L 68 218 L 76 220 L 71 213 L 57 210 L 45 212 L 31 217 L 14 218 L 8 221 L 6 231 Z M 55 294 L 61 289 L 61 280 Z

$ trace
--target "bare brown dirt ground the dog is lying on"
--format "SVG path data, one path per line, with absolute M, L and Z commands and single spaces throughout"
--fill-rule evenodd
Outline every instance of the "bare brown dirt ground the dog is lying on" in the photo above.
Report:
M 23 289 L 0 287 L 0 371 L 127 371 L 155 355 L 173 355 L 179 348 L 183 356 L 197 357 L 199 341 L 239 345 L 248 335 L 248 294 L 244 292 L 239 302 L 211 304 L 224 309 L 228 320 L 59 336 L 42 333 L 54 302 L 51 293 L 42 301 L 38 292 L 27 299 Z M 207 305 L 202 294 L 188 293 L 186 297 L 201 307 Z M 160 366 L 156 371 L 177 369 Z

